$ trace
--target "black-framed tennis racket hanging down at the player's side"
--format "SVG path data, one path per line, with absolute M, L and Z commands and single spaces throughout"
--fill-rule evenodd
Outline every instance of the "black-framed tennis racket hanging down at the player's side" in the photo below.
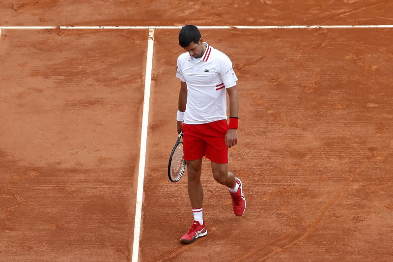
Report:
M 183 130 L 180 131 L 175 146 L 173 146 L 168 162 L 168 177 L 171 182 L 180 180 L 186 168 L 186 161 L 183 159 Z

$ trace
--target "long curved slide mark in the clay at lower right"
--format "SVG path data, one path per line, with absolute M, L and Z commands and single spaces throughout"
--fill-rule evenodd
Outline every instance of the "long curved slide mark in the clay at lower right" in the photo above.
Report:
M 337 200 L 340 198 L 340 196 L 342 195 L 342 192 L 344 191 L 344 189 L 348 186 L 348 184 L 352 181 L 352 179 L 359 175 L 360 172 L 362 172 L 362 170 L 365 169 L 365 167 L 367 166 L 368 160 L 366 159 L 363 164 L 354 172 L 352 173 L 347 180 L 342 184 L 342 186 L 339 188 L 338 192 L 336 193 L 336 195 L 322 208 L 322 210 L 316 215 L 316 217 L 314 218 L 311 226 L 309 226 L 309 228 L 306 230 L 305 233 L 303 233 L 300 237 L 298 237 L 296 240 L 286 244 L 285 246 L 283 246 L 282 248 L 278 248 L 276 250 L 274 250 L 273 252 L 267 254 L 266 256 L 264 256 L 263 258 L 261 258 L 260 261 L 264 261 L 268 258 L 270 258 L 271 256 L 276 255 L 277 253 L 281 253 L 284 249 L 291 247 L 295 244 L 300 243 L 301 241 L 303 241 L 303 239 L 307 238 L 309 236 L 309 234 L 311 232 L 313 232 L 319 225 L 319 223 L 321 222 L 322 218 L 325 216 L 326 212 L 337 202 Z

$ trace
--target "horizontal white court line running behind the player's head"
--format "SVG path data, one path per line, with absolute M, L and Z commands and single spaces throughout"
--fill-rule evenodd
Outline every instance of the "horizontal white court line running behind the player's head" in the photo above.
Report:
M 0 29 L 181 29 L 183 26 L 58 26 L 58 27 L 0 27 Z M 315 28 L 393 28 L 393 25 L 337 26 L 198 26 L 200 29 L 315 29 Z

